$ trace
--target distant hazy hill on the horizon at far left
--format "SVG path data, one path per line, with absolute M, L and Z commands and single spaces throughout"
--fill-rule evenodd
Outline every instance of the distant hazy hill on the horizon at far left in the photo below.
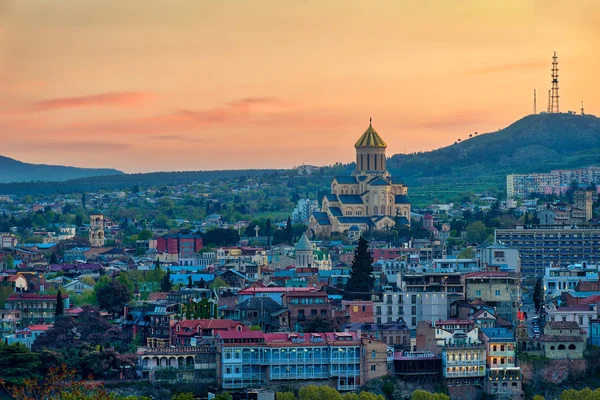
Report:
M 65 167 L 60 165 L 28 164 L 0 156 L 0 182 L 66 181 L 90 176 L 116 175 L 116 169 Z

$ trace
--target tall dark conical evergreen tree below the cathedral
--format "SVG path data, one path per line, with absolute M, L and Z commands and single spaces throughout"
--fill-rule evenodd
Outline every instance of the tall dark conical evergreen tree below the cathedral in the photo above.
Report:
M 346 299 L 361 298 L 368 300 L 375 283 L 375 279 L 371 276 L 372 273 L 373 257 L 369 253 L 369 242 L 361 236 L 358 240 L 358 246 L 354 249 L 352 270 L 344 295 Z M 358 293 L 358 295 L 353 293 Z

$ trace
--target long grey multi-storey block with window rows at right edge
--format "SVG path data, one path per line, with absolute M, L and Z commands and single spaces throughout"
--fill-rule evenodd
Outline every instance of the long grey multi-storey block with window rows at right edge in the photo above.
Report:
M 541 278 L 548 265 L 600 263 L 600 229 L 496 229 L 495 241 L 519 250 L 527 278 Z

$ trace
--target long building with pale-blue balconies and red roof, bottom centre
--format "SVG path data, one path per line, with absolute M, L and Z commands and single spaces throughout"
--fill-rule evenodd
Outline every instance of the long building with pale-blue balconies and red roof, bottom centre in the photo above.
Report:
M 371 355 L 356 333 L 347 332 L 220 332 L 216 343 L 223 389 L 320 381 L 340 391 L 356 390 L 364 383 L 361 349 Z M 380 369 L 387 371 L 386 364 Z

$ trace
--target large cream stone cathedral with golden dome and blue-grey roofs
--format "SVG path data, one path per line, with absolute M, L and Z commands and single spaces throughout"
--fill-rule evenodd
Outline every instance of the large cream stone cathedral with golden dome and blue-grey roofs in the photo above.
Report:
M 331 193 L 323 197 L 321 211 L 314 212 L 309 228 L 315 234 L 387 229 L 410 224 L 408 188 L 386 169 L 387 144 L 369 128 L 354 145 L 356 170 L 352 175 L 335 176 Z

